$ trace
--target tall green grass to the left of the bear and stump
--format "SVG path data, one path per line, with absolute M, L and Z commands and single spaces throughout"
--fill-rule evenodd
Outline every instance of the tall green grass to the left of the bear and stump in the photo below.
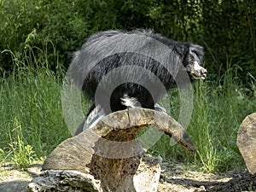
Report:
M 0 148 L 11 151 L 9 160 L 25 159 L 31 152 L 32 158 L 41 158 L 70 137 L 61 117 L 63 72 L 53 73 L 36 58 L 13 58 L 14 72 L 0 79 Z M 38 66 L 24 66 L 30 61 Z

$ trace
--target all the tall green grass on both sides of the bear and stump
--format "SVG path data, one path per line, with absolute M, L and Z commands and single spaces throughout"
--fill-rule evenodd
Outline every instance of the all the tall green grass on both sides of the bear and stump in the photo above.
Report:
M 64 73 L 53 73 L 43 63 L 30 67 L 22 63 L 14 56 L 15 70 L 3 72 L 0 78 L 0 163 L 13 161 L 17 167 L 26 168 L 33 160 L 44 160 L 71 134 L 61 113 Z M 193 85 L 194 108 L 187 131 L 198 149 L 196 153 L 177 144 L 171 147 L 166 136 L 149 151 L 166 160 L 193 163 L 206 172 L 244 166 L 236 133 L 242 119 L 256 111 L 256 80 L 248 74 L 247 84 L 241 84 L 237 69 L 228 68 L 218 81 Z M 172 89 L 169 94 L 169 113 L 177 119 L 178 90 Z

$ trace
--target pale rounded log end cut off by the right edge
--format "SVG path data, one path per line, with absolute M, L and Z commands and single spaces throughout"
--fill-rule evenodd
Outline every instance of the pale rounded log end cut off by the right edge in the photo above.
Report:
M 256 172 L 256 113 L 248 115 L 241 123 L 236 144 L 250 173 Z

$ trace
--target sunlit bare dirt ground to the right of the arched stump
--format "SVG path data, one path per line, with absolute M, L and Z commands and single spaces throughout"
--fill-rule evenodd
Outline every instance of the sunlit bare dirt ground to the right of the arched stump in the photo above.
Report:
M 158 191 L 172 192 L 245 192 L 256 191 L 256 175 L 249 172 L 203 173 L 178 164 L 164 164 Z

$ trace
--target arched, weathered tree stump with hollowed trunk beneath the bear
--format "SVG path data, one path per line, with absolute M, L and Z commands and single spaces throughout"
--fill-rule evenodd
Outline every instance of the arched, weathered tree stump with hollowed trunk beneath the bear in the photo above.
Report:
M 161 158 L 146 154 L 143 147 L 148 143 L 136 138 L 148 126 L 156 130 L 149 142 L 162 132 L 195 151 L 188 134 L 172 117 L 130 108 L 111 113 L 62 142 L 44 161 L 44 172 L 33 178 L 29 191 L 156 191 Z

